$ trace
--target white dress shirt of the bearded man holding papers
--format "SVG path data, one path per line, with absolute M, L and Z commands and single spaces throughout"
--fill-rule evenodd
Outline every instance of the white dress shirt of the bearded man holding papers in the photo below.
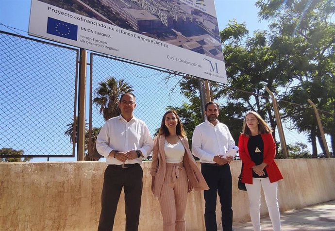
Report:
M 235 146 L 235 141 L 228 127 L 217 120 L 214 126 L 207 119 L 199 124 L 192 136 L 192 154 L 200 158 L 200 162 L 215 164 L 214 156 L 224 155 Z

